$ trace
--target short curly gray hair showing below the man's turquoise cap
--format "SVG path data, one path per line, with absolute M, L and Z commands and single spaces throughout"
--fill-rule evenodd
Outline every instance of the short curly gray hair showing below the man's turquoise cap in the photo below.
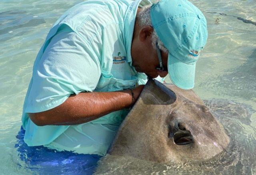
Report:
M 138 12 L 137 19 L 138 24 L 140 26 L 152 26 L 151 18 L 150 18 L 150 6 L 143 6 Z M 167 52 L 168 50 L 164 46 L 163 42 L 158 37 L 156 31 L 154 30 L 152 33 L 152 46 L 156 49 L 156 42 L 158 43 L 158 47 L 160 50 Z

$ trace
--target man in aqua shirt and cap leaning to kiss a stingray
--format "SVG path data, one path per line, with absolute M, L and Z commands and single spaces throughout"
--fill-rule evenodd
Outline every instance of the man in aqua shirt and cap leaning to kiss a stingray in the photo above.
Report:
M 176 86 L 194 86 L 206 39 L 206 19 L 187 0 L 74 6 L 54 24 L 35 60 L 22 115 L 24 141 L 106 154 L 147 76 L 169 73 Z

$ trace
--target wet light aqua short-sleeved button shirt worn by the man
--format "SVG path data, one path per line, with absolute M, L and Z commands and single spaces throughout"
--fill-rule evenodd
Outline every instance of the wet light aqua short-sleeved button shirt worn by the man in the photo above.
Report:
M 82 91 L 117 91 L 145 84 L 146 75 L 132 67 L 131 44 L 137 8 L 146 4 L 150 2 L 88 0 L 57 20 L 34 62 L 24 101 L 22 126 L 29 146 L 106 153 L 128 110 L 72 126 L 37 126 L 27 113 L 52 109 Z

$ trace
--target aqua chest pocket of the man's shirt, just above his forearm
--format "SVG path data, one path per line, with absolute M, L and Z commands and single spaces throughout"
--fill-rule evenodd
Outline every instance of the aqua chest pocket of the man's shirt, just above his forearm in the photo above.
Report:
M 113 74 L 102 71 L 100 80 L 95 91 L 118 91 L 135 86 L 137 77 L 132 76 L 132 80 L 122 80 L 114 78 Z

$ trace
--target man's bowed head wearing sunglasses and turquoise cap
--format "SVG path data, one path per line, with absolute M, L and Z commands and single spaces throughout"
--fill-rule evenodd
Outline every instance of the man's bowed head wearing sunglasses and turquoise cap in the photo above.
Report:
M 206 19 L 196 6 L 187 0 L 160 0 L 137 12 L 133 66 L 150 77 L 164 77 L 167 72 L 156 70 L 162 58 L 162 67 L 168 69 L 172 82 L 182 89 L 191 89 L 196 61 L 206 39 Z

